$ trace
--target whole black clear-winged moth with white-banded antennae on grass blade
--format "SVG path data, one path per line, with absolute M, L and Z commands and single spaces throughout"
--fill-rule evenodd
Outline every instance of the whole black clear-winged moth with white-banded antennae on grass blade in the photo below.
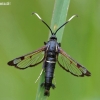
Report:
M 52 32 L 48 24 L 37 14 L 35 14 L 50 30 L 51 37 L 49 41 L 44 43 L 40 49 L 28 53 L 24 56 L 15 58 L 8 62 L 8 65 L 14 66 L 18 69 L 26 69 L 29 67 L 35 67 L 36 65 L 43 62 L 43 71 L 45 72 L 45 81 L 41 84 L 45 88 L 44 95 L 50 95 L 50 88 L 55 88 L 55 85 L 52 83 L 54 70 L 56 63 L 65 70 L 66 72 L 71 73 L 77 77 L 91 76 L 91 73 L 81 64 L 72 59 L 63 49 L 61 44 L 57 42 L 56 33 L 68 22 L 70 22 L 77 15 L 73 15 L 68 21 L 61 25 L 56 32 Z

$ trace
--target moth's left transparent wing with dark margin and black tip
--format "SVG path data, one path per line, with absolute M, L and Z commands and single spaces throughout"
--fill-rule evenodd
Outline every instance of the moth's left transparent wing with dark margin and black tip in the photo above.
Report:
M 44 52 L 46 49 L 46 46 L 43 46 L 42 48 L 33 51 L 29 54 L 26 54 L 24 56 L 15 58 L 14 60 L 9 61 L 7 64 L 10 66 L 15 66 L 18 69 L 26 69 L 28 67 L 34 67 L 38 64 L 40 64 L 45 56 Z

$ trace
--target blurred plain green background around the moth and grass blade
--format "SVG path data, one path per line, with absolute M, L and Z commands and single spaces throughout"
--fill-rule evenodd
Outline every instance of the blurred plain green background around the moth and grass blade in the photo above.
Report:
M 1 2 L 10 5 L 0 5 L 0 100 L 35 100 L 38 82 L 34 82 L 42 64 L 23 71 L 7 62 L 48 40 L 48 28 L 31 13 L 37 12 L 50 25 L 54 0 Z M 73 14 L 79 17 L 66 25 L 62 48 L 92 76 L 74 77 L 56 65 L 56 89 L 51 89 L 48 100 L 100 100 L 100 0 L 71 0 L 67 19 Z

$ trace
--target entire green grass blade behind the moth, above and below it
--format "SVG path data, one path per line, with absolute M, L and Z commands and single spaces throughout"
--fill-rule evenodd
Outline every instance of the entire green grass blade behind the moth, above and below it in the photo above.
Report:
M 51 20 L 51 29 L 56 31 L 65 21 L 67 17 L 68 7 L 70 0 L 55 0 L 54 11 Z M 57 32 L 57 41 L 61 42 L 63 35 L 64 27 Z M 51 33 L 49 34 L 49 37 Z M 45 72 L 40 76 L 40 82 L 38 85 L 38 90 L 36 94 L 36 100 L 47 100 L 47 96 L 44 96 L 44 87 L 41 87 L 41 84 L 45 81 Z

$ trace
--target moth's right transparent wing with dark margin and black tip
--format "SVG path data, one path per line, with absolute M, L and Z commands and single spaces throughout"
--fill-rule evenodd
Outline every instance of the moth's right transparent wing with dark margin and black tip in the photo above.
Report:
M 91 73 L 82 65 L 73 60 L 66 52 L 59 48 L 58 64 L 65 71 L 77 77 L 91 76 Z

